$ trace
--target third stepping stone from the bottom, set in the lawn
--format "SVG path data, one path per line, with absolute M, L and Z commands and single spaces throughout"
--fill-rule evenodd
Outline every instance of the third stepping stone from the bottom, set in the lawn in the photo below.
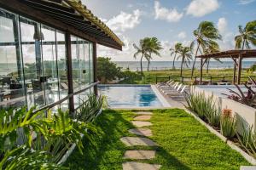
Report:
M 120 139 L 126 146 L 158 146 L 154 141 L 139 137 L 123 137 Z

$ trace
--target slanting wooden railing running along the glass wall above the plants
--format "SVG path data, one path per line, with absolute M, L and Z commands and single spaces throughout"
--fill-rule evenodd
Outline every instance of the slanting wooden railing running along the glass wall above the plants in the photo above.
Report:
M 82 92 L 84 92 L 84 91 L 86 91 L 86 90 L 88 90 L 88 89 L 90 89 L 90 88 L 92 88 L 92 87 L 95 87 L 98 83 L 100 83 L 100 82 L 99 82 L 99 81 L 98 81 L 98 82 L 94 82 L 94 83 L 90 84 L 90 86 L 88 86 L 88 87 L 86 87 L 86 88 L 80 89 L 79 91 L 76 91 L 76 92 L 74 92 L 73 94 L 68 94 L 65 98 L 60 99 L 60 100 L 56 101 L 55 103 L 52 103 L 52 104 L 49 104 L 49 105 L 45 105 L 44 107 L 41 107 L 41 108 L 39 108 L 39 109 L 36 110 L 36 111 L 33 111 L 33 113 L 37 113 L 38 111 L 49 110 L 49 109 L 55 107 L 56 105 L 61 105 L 61 103 L 63 103 L 63 102 L 66 101 L 67 99 L 70 99 L 70 98 L 72 98 L 74 95 L 80 94 L 80 93 L 82 93 Z

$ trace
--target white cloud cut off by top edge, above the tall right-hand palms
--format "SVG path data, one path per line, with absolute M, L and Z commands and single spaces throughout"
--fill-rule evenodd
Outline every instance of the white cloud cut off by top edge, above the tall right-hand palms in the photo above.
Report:
M 193 0 L 189 3 L 187 14 L 195 17 L 201 17 L 210 14 L 219 8 L 218 0 Z

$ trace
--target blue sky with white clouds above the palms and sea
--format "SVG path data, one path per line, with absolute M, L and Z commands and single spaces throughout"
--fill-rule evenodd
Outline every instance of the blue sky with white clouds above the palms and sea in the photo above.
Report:
M 212 21 L 223 40 L 221 50 L 234 49 L 238 26 L 256 20 L 256 0 L 82 0 L 93 14 L 125 43 L 123 51 L 98 46 L 98 56 L 113 61 L 136 61 L 133 43 L 157 37 L 164 48 L 154 61 L 171 61 L 176 42 L 189 46 L 193 31 L 203 20 Z M 255 47 L 252 47 L 255 48 Z

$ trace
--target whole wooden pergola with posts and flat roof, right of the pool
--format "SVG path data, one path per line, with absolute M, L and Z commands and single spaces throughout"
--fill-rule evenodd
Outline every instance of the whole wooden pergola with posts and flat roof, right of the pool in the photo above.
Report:
M 246 58 L 256 58 L 256 50 L 228 50 L 212 54 L 203 54 L 196 56 L 196 58 L 201 59 L 200 68 L 200 84 L 202 83 L 202 68 L 203 59 L 233 59 L 234 61 L 234 73 L 233 73 L 233 83 L 240 84 L 241 82 L 241 60 Z M 236 78 L 236 67 L 237 67 L 237 78 Z

